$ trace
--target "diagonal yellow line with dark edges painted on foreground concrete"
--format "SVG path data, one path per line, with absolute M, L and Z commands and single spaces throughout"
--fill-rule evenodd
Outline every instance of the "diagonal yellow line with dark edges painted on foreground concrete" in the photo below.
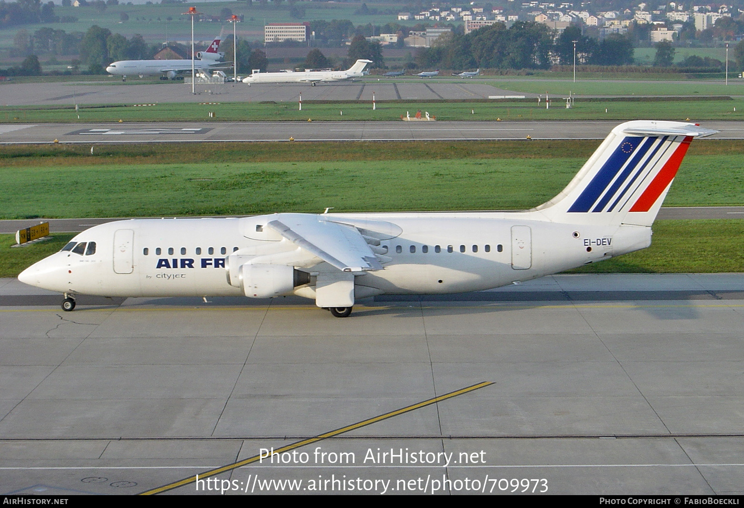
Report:
M 341 429 L 336 429 L 330 432 L 325 432 L 324 434 L 318 434 L 315 437 L 310 437 L 308 439 L 304 439 L 296 443 L 283 446 L 282 448 L 274 450 L 274 453 L 281 454 L 284 452 L 290 452 L 294 449 L 300 448 L 301 446 L 306 446 L 312 443 L 317 443 L 318 441 L 328 439 L 329 437 L 335 437 L 335 436 L 338 436 L 339 434 L 344 434 L 344 432 L 350 432 L 355 429 L 360 429 L 362 427 L 371 425 L 373 423 L 377 423 L 382 420 L 387 420 L 388 418 L 398 416 L 399 414 L 404 414 L 404 413 L 415 411 L 416 409 L 420 409 L 426 406 L 431 406 L 432 404 L 439 403 L 443 400 L 452 399 L 452 397 L 458 397 L 458 395 L 464 395 L 471 391 L 478 390 L 478 388 L 485 388 L 486 386 L 493 385 L 493 384 L 494 383 L 491 381 L 484 381 L 484 382 L 479 382 L 476 385 L 466 386 L 465 388 L 460 388 L 459 390 L 450 391 L 449 394 L 440 395 L 439 397 L 434 397 L 433 399 L 429 399 L 429 400 L 423 400 L 420 403 L 415 403 L 415 404 L 412 404 L 411 406 L 405 406 L 405 408 L 400 408 L 400 409 L 396 409 L 395 411 L 390 411 L 388 413 L 379 414 L 378 416 L 369 418 L 368 420 L 362 420 L 361 422 L 352 423 L 351 425 L 341 427 Z M 227 466 L 218 467 L 217 469 L 211 469 L 209 471 L 205 471 L 197 475 L 184 478 L 183 480 L 174 481 L 173 483 L 167 483 L 167 485 L 159 486 L 159 487 L 156 487 L 155 489 L 150 489 L 144 492 L 140 492 L 138 495 L 154 495 L 154 494 L 160 494 L 161 492 L 167 492 L 168 490 L 177 489 L 179 486 L 184 486 L 184 485 L 188 485 L 189 483 L 196 482 L 196 479 L 199 478 L 199 476 L 201 476 L 202 478 L 209 478 L 214 475 L 219 475 L 220 473 L 231 471 L 232 469 L 237 469 L 242 466 L 247 466 L 250 463 L 257 462 L 258 460 L 260 460 L 260 457 L 261 457 L 260 455 L 254 455 L 253 457 L 248 457 L 247 459 L 243 459 L 238 462 L 228 464 Z

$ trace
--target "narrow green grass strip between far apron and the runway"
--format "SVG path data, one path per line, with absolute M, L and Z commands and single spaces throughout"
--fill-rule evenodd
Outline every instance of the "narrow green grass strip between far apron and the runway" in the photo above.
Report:
M 168 85 L 164 85 L 168 86 Z M 171 85 L 178 86 L 178 85 Z M 183 85 L 180 85 L 183 86 Z M 80 87 L 78 87 L 80 89 Z M 0 85 L 0 91 L 2 90 Z M 298 88 L 298 92 L 301 91 Z M 744 91 L 744 90 L 743 90 Z M 214 98 L 214 96 L 210 96 Z M 219 96 L 217 96 L 219 97 Z M 658 100 L 625 102 L 613 100 L 581 100 L 571 109 L 559 94 L 551 108 L 545 102 L 377 102 L 372 109 L 368 101 L 351 103 L 297 102 L 219 102 L 217 104 L 161 103 L 154 106 L 133 105 L 81 106 L 74 103 L 54 108 L 39 106 L 0 106 L 0 123 L 45 122 L 166 122 L 166 121 L 379 121 L 400 120 L 407 112 L 428 111 L 437 120 L 744 120 L 744 99 L 731 100 Z M 214 118 L 209 113 L 214 112 Z M 78 118 L 80 117 L 80 118 Z

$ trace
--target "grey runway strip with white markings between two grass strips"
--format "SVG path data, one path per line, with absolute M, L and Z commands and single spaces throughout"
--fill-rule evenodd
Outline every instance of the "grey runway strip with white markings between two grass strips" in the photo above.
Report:
M 405 109 L 403 110 L 405 113 Z M 175 143 L 205 141 L 400 141 L 604 139 L 612 121 L 525 122 L 164 122 L 0 125 L 0 143 Z M 705 122 L 708 139 L 742 139 L 744 122 Z M 705 140 L 703 140 L 705 143 Z

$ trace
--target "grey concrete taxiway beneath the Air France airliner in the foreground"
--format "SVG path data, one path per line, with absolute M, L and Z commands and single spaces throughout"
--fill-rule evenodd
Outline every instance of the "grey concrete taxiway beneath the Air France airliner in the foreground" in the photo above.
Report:
M 60 300 L 0 279 L 4 494 L 744 493 L 744 274 Z

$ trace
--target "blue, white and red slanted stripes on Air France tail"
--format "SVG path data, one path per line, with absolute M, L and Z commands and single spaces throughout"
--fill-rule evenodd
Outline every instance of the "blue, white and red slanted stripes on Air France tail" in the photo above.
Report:
M 648 212 L 677 174 L 691 140 L 624 137 L 568 212 Z

